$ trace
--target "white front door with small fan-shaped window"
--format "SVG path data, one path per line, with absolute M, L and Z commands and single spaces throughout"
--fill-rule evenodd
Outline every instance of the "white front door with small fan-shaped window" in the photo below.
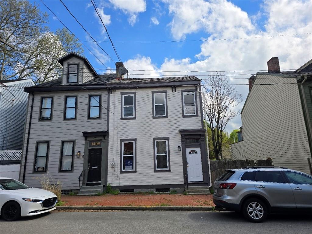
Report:
M 188 182 L 202 182 L 202 155 L 200 148 L 186 148 Z

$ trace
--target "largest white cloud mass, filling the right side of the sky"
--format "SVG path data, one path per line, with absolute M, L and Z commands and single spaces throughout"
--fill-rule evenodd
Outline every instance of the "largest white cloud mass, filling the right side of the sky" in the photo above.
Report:
M 169 13 L 172 16 L 169 26 L 172 36 L 176 40 L 198 31 L 206 32 L 205 39 L 208 40 L 263 38 L 205 41 L 201 45 L 201 51 L 195 56 L 198 61 L 194 62 L 192 57 L 180 60 L 165 59 L 158 68 L 149 57 L 137 56 L 129 60 L 131 62 L 127 63 L 129 67 L 135 65 L 137 69 L 170 71 L 267 70 L 266 62 L 271 57 L 278 56 L 281 69 L 297 69 L 311 59 L 312 34 L 267 37 L 312 32 L 311 0 L 266 1 L 263 3 L 261 13 L 257 13 L 256 16 L 248 16 L 239 7 L 225 0 L 211 2 L 204 0 L 163 1 L 168 3 Z M 257 25 L 259 18 L 263 16 L 268 17 L 264 30 Z M 154 67 L 154 69 L 145 69 L 146 67 Z M 150 72 L 148 73 L 150 74 Z M 252 73 L 256 72 L 245 72 L 245 74 Z M 188 75 L 194 74 L 194 72 L 158 72 L 156 74 Z M 208 73 L 198 73 L 198 75 L 200 74 L 207 75 Z M 228 78 L 249 78 L 250 76 L 229 76 Z M 207 76 L 198 77 L 207 78 Z M 230 80 L 230 82 L 232 84 L 248 83 L 247 80 Z M 248 85 L 236 87 L 245 101 Z M 243 104 L 244 102 L 237 106 L 236 110 L 241 110 Z M 240 126 L 241 117 L 239 115 L 228 124 L 227 131 L 231 132 L 233 128 L 237 129 Z

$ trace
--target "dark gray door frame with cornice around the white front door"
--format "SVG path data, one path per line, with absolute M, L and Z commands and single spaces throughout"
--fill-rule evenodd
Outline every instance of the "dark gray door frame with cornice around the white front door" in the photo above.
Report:
M 188 169 L 186 148 L 197 147 L 200 148 L 202 158 L 202 178 L 203 182 L 190 182 L 191 184 L 210 185 L 209 182 L 209 168 L 208 168 L 208 155 L 206 147 L 205 129 L 180 129 L 181 134 L 181 148 L 182 148 L 182 162 L 183 162 L 183 180 L 184 184 L 187 183 Z M 199 139 L 199 142 L 188 144 L 187 139 Z

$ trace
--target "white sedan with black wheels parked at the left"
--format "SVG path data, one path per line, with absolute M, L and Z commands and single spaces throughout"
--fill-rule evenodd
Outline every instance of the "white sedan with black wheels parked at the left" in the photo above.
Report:
M 6 221 L 52 211 L 56 202 L 54 193 L 28 187 L 15 179 L 0 177 L 1 217 Z

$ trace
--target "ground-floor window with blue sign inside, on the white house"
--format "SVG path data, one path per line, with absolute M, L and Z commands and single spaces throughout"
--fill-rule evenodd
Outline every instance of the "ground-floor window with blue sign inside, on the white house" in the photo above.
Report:
M 134 173 L 136 171 L 136 139 L 121 140 L 121 152 L 120 152 L 120 173 Z

